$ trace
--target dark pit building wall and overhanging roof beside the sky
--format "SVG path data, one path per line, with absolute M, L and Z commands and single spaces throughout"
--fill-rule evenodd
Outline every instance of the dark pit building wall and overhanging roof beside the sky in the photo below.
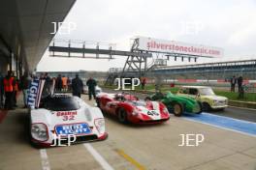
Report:
M 76 0 L 8 0 L 0 5 L 1 71 L 34 71 L 53 38 L 51 22 L 61 22 Z M 11 61 L 13 56 L 13 62 Z

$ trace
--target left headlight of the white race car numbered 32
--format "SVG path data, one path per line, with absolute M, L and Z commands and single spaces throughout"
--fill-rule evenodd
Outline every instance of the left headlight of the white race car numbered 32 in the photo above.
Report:
M 38 141 L 48 140 L 48 128 L 45 124 L 37 123 L 31 125 L 31 136 Z

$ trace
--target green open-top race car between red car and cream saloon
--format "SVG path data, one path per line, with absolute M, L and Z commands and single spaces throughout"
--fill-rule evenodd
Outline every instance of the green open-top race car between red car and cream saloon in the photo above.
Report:
M 175 116 L 181 116 L 184 112 L 196 114 L 202 112 L 201 102 L 189 97 L 176 96 L 171 92 L 166 95 L 158 92 L 147 99 L 161 100 L 167 106 L 169 112 L 174 112 Z

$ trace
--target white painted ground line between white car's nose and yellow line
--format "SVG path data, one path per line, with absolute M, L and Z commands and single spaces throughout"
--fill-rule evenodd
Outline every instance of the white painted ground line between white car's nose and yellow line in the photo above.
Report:
M 113 170 L 112 166 L 105 160 L 105 158 L 101 156 L 90 144 L 85 143 L 83 146 L 101 164 L 103 169 Z

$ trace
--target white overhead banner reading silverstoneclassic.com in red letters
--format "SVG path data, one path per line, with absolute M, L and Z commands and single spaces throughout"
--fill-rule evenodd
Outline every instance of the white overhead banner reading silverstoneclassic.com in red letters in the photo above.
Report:
M 138 39 L 138 49 L 140 50 L 188 54 L 205 57 L 222 57 L 224 54 L 223 48 L 220 47 L 192 44 L 187 42 L 166 41 L 145 37 L 138 37 Z

